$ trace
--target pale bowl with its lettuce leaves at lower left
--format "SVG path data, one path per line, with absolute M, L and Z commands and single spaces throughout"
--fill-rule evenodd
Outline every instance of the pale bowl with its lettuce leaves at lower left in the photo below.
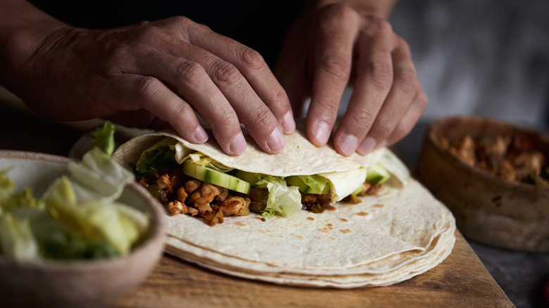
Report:
M 3 307 L 106 306 L 158 262 L 165 214 L 111 160 L 111 128 L 80 161 L 0 150 Z

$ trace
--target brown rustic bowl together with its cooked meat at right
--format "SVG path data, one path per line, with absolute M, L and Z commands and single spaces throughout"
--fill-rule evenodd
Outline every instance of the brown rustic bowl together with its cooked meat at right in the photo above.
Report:
M 549 251 L 549 136 L 485 117 L 444 117 L 427 129 L 417 175 L 470 240 Z

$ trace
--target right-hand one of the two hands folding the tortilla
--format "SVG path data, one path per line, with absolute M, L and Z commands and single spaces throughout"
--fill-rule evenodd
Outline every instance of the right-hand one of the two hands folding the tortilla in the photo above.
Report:
M 343 91 L 354 84 L 333 139 L 346 156 L 396 143 L 427 108 L 408 44 L 384 18 L 349 6 L 304 15 L 289 32 L 275 72 L 294 113 L 310 96 L 307 136 L 317 146 L 327 143 Z

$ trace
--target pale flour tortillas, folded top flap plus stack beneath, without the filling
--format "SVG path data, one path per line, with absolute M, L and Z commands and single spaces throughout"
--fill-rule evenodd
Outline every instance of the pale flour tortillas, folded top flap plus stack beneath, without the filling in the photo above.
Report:
M 118 148 L 122 165 L 171 136 L 228 167 L 286 177 L 341 172 L 380 162 L 393 177 L 375 196 L 356 205 L 339 202 L 322 214 L 299 211 L 289 218 L 262 219 L 251 213 L 208 226 L 201 219 L 168 219 L 166 251 L 203 267 L 272 283 L 334 288 L 391 285 L 435 267 L 455 242 L 452 214 L 417 181 L 388 149 L 345 158 L 329 147 L 317 148 L 297 131 L 286 136 L 282 153 L 270 155 L 246 134 L 239 156 L 217 143 L 193 144 L 161 131 L 139 136 Z

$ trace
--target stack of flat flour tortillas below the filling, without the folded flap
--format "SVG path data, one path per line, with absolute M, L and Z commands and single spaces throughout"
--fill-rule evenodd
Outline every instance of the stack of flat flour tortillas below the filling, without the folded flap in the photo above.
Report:
M 391 285 L 435 267 L 455 242 L 453 216 L 416 181 L 399 190 L 289 219 L 256 214 L 210 227 L 168 219 L 167 251 L 225 274 L 273 283 Z

